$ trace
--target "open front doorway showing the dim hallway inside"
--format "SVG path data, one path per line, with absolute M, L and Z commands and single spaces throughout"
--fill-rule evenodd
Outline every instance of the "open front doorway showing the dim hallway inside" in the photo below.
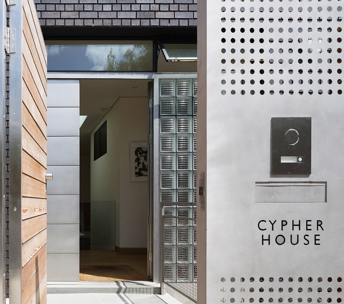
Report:
M 145 281 L 147 79 L 80 79 L 80 281 Z

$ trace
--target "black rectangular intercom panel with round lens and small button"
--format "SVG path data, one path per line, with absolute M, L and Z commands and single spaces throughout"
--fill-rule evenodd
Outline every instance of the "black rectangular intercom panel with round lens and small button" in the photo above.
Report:
M 311 174 L 311 117 L 271 119 L 271 174 Z

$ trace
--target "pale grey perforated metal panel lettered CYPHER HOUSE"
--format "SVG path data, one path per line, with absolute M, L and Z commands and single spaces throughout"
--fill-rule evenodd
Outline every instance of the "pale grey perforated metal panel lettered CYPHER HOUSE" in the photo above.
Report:
M 198 8 L 198 303 L 341 303 L 342 1 Z M 272 117 L 311 117 L 309 176 L 271 175 Z

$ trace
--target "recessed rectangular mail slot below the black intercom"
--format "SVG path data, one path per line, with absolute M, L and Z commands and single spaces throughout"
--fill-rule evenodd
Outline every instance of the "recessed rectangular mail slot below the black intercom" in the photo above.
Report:
M 326 182 L 256 182 L 256 203 L 326 203 Z

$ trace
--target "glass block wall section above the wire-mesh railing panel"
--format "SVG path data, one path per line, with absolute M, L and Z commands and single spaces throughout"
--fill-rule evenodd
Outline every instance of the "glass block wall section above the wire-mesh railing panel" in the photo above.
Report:
M 196 202 L 197 79 L 161 79 L 160 198 Z M 165 215 L 193 218 L 193 207 L 165 207 Z

